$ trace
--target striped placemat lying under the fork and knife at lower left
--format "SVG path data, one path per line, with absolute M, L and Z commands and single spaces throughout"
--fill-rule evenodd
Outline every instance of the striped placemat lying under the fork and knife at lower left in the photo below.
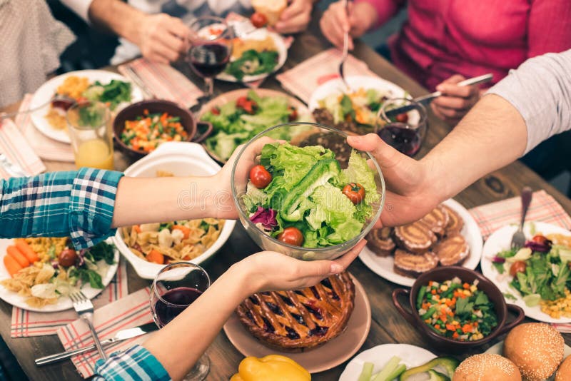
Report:
M 94 327 L 99 340 L 105 340 L 116 335 L 117 331 L 126 328 L 138 327 L 153 321 L 151 308 L 149 307 L 150 290 L 143 288 L 136 293 L 128 295 L 126 298 L 109 303 L 97 308 L 94 312 Z M 65 350 L 74 350 L 79 347 L 94 345 L 91 332 L 83 320 L 77 319 L 71 324 L 61 327 L 58 332 L 59 340 L 64 345 Z M 111 355 L 119 350 L 126 350 L 136 344 L 141 344 L 148 335 L 135 337 L 130 340 L 119 342 L 116 345 L 105 347 L 105 352 Z M 95 372 L 95 362 L 99 360 L 96 350 L 86 352 L 83 355 L 71 357 L 79 374 L 84 377 L 91 377 Z

